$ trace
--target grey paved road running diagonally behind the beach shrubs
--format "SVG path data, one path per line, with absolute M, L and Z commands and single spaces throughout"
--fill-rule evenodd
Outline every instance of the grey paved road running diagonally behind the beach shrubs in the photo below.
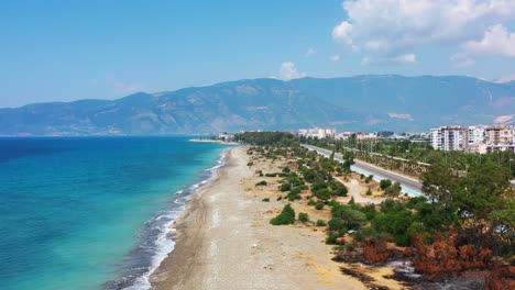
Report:
M 332 153 L 330 150 L 327 150 L 327 149 L 324 149 L 324 148 L 320 148 L 320 147 L 316 147 L 316 146 L 311 146 L 311 145 L 303 144 L 303 146 L 308 148 L 308 149 L 316 150 L 319 154 L 322 154 L 322 155 L 326 155 L 326 156 L 330 156 L 331 153 Z M 341 154 L 335 154 L 335 159 L 343 163 Z M 388 171 L 386 169 L 383 169 L 383 168 L 380 168 L 377 166 L 373 166 L 373 165 L 370 165 L 370 164 L 366 164 L 366 163 L 363 163 L 363 161 L 360 161 L 360 160 L 357 160 L 357 159 L 354 159 L 354 165 L 352 166 L 352 169 L 354 171 L 358 171 L 358 172 L 364 172 L 364 174 L 370 172 L 370 174 L 374 175 L 374 178 L 377 178 L 377 179 L 387 178 L 387 179 L 391 179 L 393 181 L 398 181 L 398 182 L 401 182 L 401 186 L 403 187 L 404 191 L 406 191 L 408 193 L 412 193 L 414 196 L 420 196 L 421 194 L 421 182 L 416 180 L 416 179 L 413 179 L 410 177 L 399 175 L 399 174 L 396 174 L 396 172 L 392 172 L 392 171 Z

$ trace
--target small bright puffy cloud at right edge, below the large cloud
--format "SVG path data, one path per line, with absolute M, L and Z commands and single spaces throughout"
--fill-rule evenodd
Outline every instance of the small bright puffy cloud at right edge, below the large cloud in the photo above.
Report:
M 495 54 L 515 56 L 515 33 L 509 33 L 503 24 L 491 26 L 481 41 L 469 41 L 464 49 L 471 54 Z

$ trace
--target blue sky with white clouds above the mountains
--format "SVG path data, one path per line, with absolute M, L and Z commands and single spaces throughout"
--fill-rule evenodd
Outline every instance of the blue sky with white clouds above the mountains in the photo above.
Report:
M 2 108 L 364 74 L 515 80 L 515 1 L 0 2 Z

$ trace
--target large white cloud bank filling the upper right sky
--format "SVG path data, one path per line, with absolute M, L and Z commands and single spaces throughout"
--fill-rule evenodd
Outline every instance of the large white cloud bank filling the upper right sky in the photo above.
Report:
M 515 56 L 515 35 L 495 25 L 515 20 L 513 0 L 347 0 L 342 7 L 348 19 L 332 29 L 333 40 L 375 58 L 463 44 L 472 52 Z M 404 60 L 396 63 L 414 63 Z

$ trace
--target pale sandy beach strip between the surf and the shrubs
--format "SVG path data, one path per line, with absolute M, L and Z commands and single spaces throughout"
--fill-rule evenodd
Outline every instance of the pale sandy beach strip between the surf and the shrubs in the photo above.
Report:
M 248 167 L 245 150 L 231 148 L 213 182 L 191 197 L 176 223 L 175 250 L 151 277 L 153 289 L 368 289 L 340 272 L 321 227 L 270 225 L 286 202 L 276 201 L 274 180 L 254 187 L 260 168 Z M 318 219 L 313 208 L 296 211 Z

